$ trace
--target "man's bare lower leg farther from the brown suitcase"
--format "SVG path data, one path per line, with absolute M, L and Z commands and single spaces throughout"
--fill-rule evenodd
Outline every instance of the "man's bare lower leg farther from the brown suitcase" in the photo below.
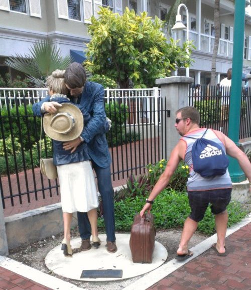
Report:
M 215 215 L 215 225 L 217 233 L 216 249 L 219 253 L 225 252 L 225 237 L 227 229 L 228 214 L 227 211 Z

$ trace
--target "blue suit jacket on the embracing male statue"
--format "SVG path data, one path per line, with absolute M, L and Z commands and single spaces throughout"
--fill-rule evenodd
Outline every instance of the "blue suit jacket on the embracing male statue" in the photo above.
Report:
M 48 101 L 50 101 L 50 96 L 39 103 L 33 104 L 32 109 L 35 116 L 41 116 L 42 103 Z M 84 143 L 87 143 L 89 157 L 99 167 L 106 168 L 110 166 L 111 158 L 105 137 L 105 132 L 108 131 L 108 123 L 104 110 L 103 87 L 98 83 L 86 81 L 77 104 L 80 105 L 79 108 L 84 116 L 84 129 L 80 135 L 84 139 Z M 57 165 L 57 163 L 55 164 Z

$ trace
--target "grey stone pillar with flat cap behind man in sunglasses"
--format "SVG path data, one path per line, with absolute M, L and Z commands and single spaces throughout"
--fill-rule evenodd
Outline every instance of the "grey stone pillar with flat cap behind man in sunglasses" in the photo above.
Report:
M 156 84 L 161 86 L 161 97 L 163 104 L 166 99 L 167 109 L 170 110 L 170 117 L 164 121 L 165 112 L 162 113 L 162 124 L 167 124 L 163 128 L 163 135 L 161 136 L 165 152 L 162 153 L 163 158 L 169 159 L 171 151 L 179 141 L 180 135 L 175 128 L 175 112 L 185 106 L 188 106 L 188 91 L 189 84 L 193 83 L 194 79 L 183 76 L 172 76 L 156 80 Z

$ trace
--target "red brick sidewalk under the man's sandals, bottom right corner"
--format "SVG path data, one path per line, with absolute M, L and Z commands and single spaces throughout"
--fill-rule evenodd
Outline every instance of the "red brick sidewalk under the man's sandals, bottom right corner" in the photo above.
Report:
M 209 249 L 148 289 L 251 290 L 251 223 L 226 238 L 228 255 Z

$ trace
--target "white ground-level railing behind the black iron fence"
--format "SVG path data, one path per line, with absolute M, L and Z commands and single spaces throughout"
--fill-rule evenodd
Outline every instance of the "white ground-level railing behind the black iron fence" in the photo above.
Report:
M 12 108 L 15 103 L 32 104 L 48 95 L 48 90 L 43 88 L 0 88 L 0 108 Z M 105 102 L 119 102 L 129 107 L 128 124 L 154 123 L 158 121 L 158 103 L 161 89 L 105 89 Z

